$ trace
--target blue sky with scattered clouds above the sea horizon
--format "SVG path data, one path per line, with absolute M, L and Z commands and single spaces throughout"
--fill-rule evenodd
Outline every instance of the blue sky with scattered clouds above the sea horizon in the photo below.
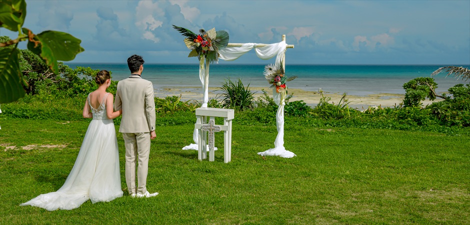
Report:
M 291 64 L 470 64 L 470 0 L 26 0 L 23 27 L 81 39 L 71 62 L 197 63 L 172 24 L 275 43 Z M 14 39 L 17 32 L 0 28 Z M 26 41 L 19 45 L 26 48 Z M 265 60 L 254 51 L 235 61 Z

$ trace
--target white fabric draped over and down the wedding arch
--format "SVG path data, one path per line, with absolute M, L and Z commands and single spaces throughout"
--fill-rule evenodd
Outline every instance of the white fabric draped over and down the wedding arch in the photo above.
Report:
M 287 44 L 285 43 L 285 40 L 282 40 L 281 42 L 272 43 L 268 45 L 264 45 L 264 44 L 260 45 L 257 43 L 244 43 L 239 47 L 225 47 L 224 49 L 221 49 L 218 52 L 220 54 L 219 55 L 220 59 L 223 59 L 226 61 L 233 61 L 254 48 L 258 58 L 267 60 L 276 56 L 275 65 L 279 66 L 279 64 L 281 63 L 284 57 L 284 52 L 285 52 L 286 47 L 287 47 Z M 203 98 L 202 98 L 201 107 L 207 107 L 209 63 L 205 61 L 205 58 L 202 58 L 199 64 L 199 78 L 202 83 L 202 89 L 203 89 Z M 273 97 L 274 97 L 274 100 L 276 101 L 276 104 L 279 105 L 279 107 L 277 108 L 277 112 L 276 112 L 277 137 L 274 141 L 274 148 L 271 148 L 263 152 L 258 152 L 258 154 L 277 155 L 281 157 L 290 158 L 290 157 L 295 156 L 295 154 L 290 151 L 285 150 L 283 146 L 284 145 L 284 104 L 285 104 L 284 99 L 282 99 L 281 101 L 280 94 L 275 91 L 275 88 L 273 89 Z M 192 139 L 194 143 L 184 146 L 182 148 L 183 150 L 188 150 L 188 149 L 197 150 L 197 129 L 194 129 L 192 133 Z

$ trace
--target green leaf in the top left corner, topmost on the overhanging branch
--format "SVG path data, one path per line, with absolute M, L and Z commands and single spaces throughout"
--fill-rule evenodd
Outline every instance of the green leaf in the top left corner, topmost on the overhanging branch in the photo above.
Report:
M 24 0 L 0 1 L 0 26 L 12 31 L 18 31 L 26 17 L 26 2 Z

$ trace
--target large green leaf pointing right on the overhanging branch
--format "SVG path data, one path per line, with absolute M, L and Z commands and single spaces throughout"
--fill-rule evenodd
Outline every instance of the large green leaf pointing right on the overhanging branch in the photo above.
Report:
M 28 29 L 23 28 L 23 32 L 27 33 Z M 33 41 L 29 40 L 27 47 L 39 55 L 55 74 L 58 74 L 57 60 L 69 61 L 84 51 L 80 42 L 80 39 L 68 33 L 46 30 L 34 35 Z

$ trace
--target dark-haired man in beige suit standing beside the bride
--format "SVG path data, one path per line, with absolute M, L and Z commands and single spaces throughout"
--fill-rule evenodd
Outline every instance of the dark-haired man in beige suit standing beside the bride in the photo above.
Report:
M 155 102 L 152 82 L 142 79 L 143 58 L 132 55 L 127 58 L 130 76 L 117 83 L 114 109 L 122 108 L 119 132 L 125 145 L 125 182 L 132 197 L 152 197 L 146 189 L 150 139 L 155 134 Z M 138 163 L 137 163 L 138 161 Z M 137 184 L 135 185 L 135 167 Z

